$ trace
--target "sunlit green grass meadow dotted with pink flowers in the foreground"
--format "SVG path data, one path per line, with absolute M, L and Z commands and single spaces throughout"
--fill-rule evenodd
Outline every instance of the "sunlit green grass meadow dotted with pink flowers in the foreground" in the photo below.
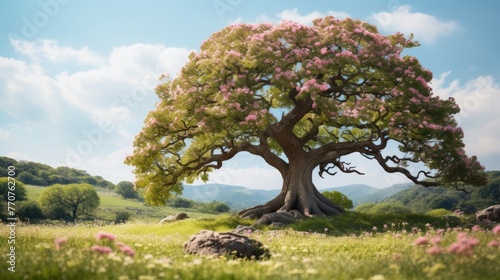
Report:
M 16 271 L 7 270 L 9 252 L 2 246 L 0 278 L 400 280 L 495 279 L 500 275 L 500 248 L 495 243 L 500 236 L 491 226 L 441 230 L 444 227 L 439 219 L 415 215 L 347 213 L 309 219 L 281 230 L 264 227 L 261 232 L 249 233 L 270 250 L 271 256 L 263 260 L 207 258 L 183 252 L 183 243 L 202 229 L 229 231 L 238 224 L 251 223 L 222 215 L 165 225 L 18 224 Z M 497 231 L 500 228 L 495 231 L 500 234 Z M 98 232 L 116 235 L 134 255 L 122 252 L 112 241 L 97 241 L 94 236 Z M 0 235 L 6 244 L 8 227 L 3 226 Z M 59 249 L 54 243 L 58 238 L 65 238 L 59 239 Z M 417 239 L 422 245 L 414 244 Z M 94 252 L 90 249 L 94 245 L 109 246 L 113 251 Z M 469 247 L 448 252 L 459 245 Z

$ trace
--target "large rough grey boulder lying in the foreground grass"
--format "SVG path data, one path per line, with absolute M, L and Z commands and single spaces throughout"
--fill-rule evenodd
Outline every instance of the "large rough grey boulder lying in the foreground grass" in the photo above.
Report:
M 228 256 L 238 258 L 261 258 L 269 255 L 269 251 L 257 240 L 239 234 L 219 233 L 202 230 L 191 236 L 184 243 L 184 252 L 201 256 Z

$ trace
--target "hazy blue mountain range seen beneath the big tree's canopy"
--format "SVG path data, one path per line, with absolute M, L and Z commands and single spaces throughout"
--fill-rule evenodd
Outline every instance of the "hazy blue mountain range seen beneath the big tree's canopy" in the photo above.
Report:
M 396 184 L 388 188 L 379 189 L 364 184 L 355 184 L 321 189 L 320 192 L 338 191 L 352 200 L 354 206 L 357 206 L 362 203 L 378 202 L 411 186 L 413 186 L 412 183 Z M 231 209 L 239 210 L 264 204 L 276 197 L 279 192 L 280 190 L 278 189 L 257 190 L 223 184 L 184 185 L 181 197 L 199 202 L 219 201 L 227 204 Z

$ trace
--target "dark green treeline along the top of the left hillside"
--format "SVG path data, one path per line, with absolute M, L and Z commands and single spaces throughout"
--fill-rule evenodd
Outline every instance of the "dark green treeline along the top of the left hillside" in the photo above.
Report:
M 115 185 L 101 176 L 91 176 L 84 170 L 66 166 L 53 168 L 46 164 L 17 161 L 0 157 L 0 177 L 7 176 L 7 167 L 16 167 L 16 179 L 27 185 L 51 186 L 55 184 L 90 184 L 96 187 L 114 189 Z

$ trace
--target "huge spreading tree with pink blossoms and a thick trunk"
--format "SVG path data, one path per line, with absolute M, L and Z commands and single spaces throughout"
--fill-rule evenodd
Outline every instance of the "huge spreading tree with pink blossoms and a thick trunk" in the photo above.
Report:
M 459 107 L 435 96 L 431 71 L 402 54 L 417 45 L 333 17 L 312 26 L 231 25 L 203 42 L 178 76 L 163 79 L 125 162 L 146 200 L 163 204 L 182 182 L 206 179 L 238 153 L 262 157 L 283 186 L 272 201 L 240 212 L 257 217 L 342 212 L 318 192 L 313 171 L 361 173 L 343 159 L 351 154 L 426 187 L 484 185 L 453 118 Z M 400 152 L 383 154 L 396 145 Z

